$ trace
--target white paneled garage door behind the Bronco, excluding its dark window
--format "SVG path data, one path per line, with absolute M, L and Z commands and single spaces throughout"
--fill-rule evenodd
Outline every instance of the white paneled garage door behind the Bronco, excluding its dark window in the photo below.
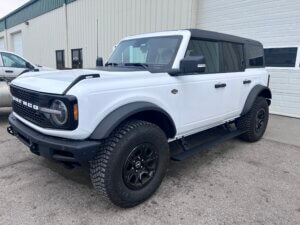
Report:
M 264 47 L 300 46 L 299 0 L 203 0 L 197 15 L 198 28 L 255 39 Z M 268 71 L 270 111 L 300 118 L 299 60 L 296 68 Z

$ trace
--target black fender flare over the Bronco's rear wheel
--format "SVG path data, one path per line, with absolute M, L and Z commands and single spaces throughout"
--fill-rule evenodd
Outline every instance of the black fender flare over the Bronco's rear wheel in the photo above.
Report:
M 245 102 L 241 116 L 247 114 L 250 111 L 250 109 L 252 108 L 252 106 L 254 104 L 255 99 L 258 96 L 265 97 L 266 99 L 268 99 L 268 104 L 269 105 L 271 104 L 270 99 L 272 98 L 272 93 L 271 93 L 270 88 L 260 85 L 260 84 L 256 85 L 252 88 L 252 90 L 250 91 L 250 93 L 247 97 L 247 100 Z

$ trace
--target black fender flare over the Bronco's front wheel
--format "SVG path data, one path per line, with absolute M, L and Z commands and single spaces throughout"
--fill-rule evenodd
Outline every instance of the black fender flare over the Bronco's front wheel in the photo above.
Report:
M 122 122 L 124 122 L 129 117 L 134 114 L 143 111 L 156 111 L 164 114 L 168 120 L 171 122 L 172 129 L 174 129 L 176 134 L 176 126 L 172 117 L 161 107 L 149 103 L 149 102 L 133 102 L 123 105 L 110 114 L 108 114 L 96 127 L 93 133 L 90 135 L 90 139 L 101 140 L 108 138 L 111 132 L 116 129 Z

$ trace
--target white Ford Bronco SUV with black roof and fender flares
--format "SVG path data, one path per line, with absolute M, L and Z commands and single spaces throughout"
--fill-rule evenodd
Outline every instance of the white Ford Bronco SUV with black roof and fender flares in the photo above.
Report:
M 13 80 L 7 130 L 37 155 L 88 165 L 97 190 L 132 207 L 159 187 L 170 158 L 237 136 L 259 140 L 268 81 L 257 41 L 197 29 L 131 36 L 105 66 Z

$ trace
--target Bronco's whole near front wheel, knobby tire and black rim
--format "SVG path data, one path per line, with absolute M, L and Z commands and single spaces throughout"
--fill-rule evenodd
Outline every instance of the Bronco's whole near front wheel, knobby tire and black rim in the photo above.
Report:
M 120 207 L 133 207 L 159 187 L 169 162 L 169 145 L 155 124 L 131 120 L 104 141 L 90 162 L 91 180 Z

